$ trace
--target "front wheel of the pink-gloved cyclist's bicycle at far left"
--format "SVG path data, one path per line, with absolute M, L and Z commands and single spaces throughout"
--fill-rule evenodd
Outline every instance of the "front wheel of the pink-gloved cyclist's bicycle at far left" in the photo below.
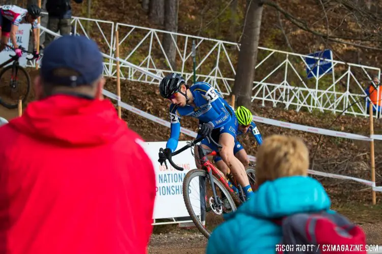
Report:
M 8 109 L 17 108 L 19 100 L 24 103 L 31 89 L 28 72 L 18 66 L 17 75 L 14 75 L 12 68 L 10 65 L 0 71 L 0 104 Z

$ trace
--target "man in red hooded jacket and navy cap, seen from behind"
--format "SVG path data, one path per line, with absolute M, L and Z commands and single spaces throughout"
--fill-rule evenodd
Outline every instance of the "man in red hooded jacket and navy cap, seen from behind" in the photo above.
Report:
M 86 37 L 53 41 L 37 101 L 0 127 L 0 253 L 146 253 L 154 169 L 101 98 L 102 60 Z

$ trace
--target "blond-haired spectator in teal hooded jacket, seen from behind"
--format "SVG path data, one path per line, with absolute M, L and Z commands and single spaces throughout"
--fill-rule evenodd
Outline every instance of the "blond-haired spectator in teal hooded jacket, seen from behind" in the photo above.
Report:
M 292 143 L 289 147 L 288 142 Z M 280 136 L 264 140 L 257 154 L 259 188 L 212 232 L 207 254 L 274 254 L 282 231 L 271 219 L 330 209 L 331 201 L 323 186 L 307 176 L 308 150 L 305 148 L 303 156 L 301 152 L 296 155 L 302 145 L 305 147 L 302 141 Z M 297 173 L 298 168 L 304 173 Z

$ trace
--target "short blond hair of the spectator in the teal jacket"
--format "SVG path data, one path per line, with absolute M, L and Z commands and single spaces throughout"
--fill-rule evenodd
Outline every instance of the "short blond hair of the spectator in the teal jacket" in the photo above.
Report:
M 309 151 L 296 137 L 272 135 L 264 139 L 256 155 L 258 185 L 280 177 L 308 175 Z

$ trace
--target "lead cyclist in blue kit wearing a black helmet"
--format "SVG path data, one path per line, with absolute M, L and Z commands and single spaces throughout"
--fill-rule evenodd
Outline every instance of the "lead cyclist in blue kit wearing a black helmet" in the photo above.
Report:
M 212 132 L 219 131 L 219 140 L 216 142 L 223 148 L 218 150 L 207 139 L 201 142 L 202 146 L 219 151 L 222 160 L 231 169 L 232 175 L 243 186 L 247 200 L 250 199 L 253 191 L 248 176 L 244 166 L 233 153 L 238 121 L 233 109 L 223 100 L 220 93 L 206 82 L 196 82 L 188 87 L 184 78 L 177 73 L 171 73 L 162 79 L 159 92 L 161 97 L 170 100 L 172 104 L 170 105 L 171 135 L 166 149 L 159 152 L 158 162 L 162 165 L 167 160 L 168 154 L 174 152 L 178 146 L 180 118 L 182 116 L 197 118 L 202 123 L 197 138 L 207 137 Z M 195 153 L 197 154 L 197 151 Z M 200 166 L 197 160 L 196 165 Z

